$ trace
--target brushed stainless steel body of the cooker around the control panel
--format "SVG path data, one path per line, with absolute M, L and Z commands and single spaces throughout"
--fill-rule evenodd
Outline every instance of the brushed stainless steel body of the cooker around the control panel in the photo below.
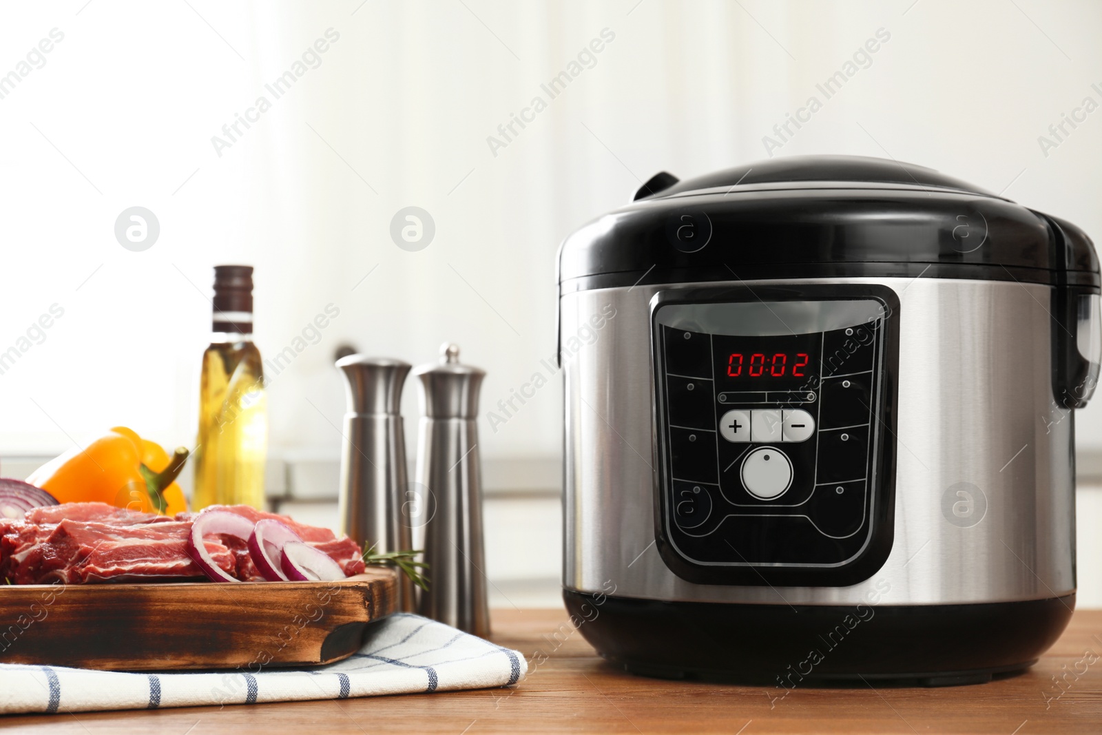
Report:
M 656 545 L 656 294 L 700 283 L 562 295 L 564 586 L 652 601 L 952 605 L 1072 593 L 1074 418 L 1054 400 L 1052 287 L 850 278 L 728 281 L 760 290 L 875 284 L 899 300 L 895 510 L 883 566 L 846 586 L 696 584 Z M 594 329 L 593 315 L 602 314 Z M 778 445 L 785 446 L 785 445 Z

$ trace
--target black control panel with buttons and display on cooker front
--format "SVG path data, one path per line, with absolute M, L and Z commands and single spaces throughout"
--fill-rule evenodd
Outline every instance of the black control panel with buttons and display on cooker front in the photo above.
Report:
M 877 519 L 893 485 L 894 294 L 853 288 L 656 296 L 657 522 L 676 573 L 830 584 L 890 527 Z

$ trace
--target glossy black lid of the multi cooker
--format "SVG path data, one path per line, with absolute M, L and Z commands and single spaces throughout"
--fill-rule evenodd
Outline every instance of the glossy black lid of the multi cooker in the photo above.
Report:
M 1067 221 L 925 166 L 846 155 L 657 174 L 559 260 L 563 291 L 919 274 L 1096 287 L 1099 261 Z

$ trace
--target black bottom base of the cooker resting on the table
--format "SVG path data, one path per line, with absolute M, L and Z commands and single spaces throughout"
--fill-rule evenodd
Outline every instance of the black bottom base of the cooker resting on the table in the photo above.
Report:
M 966 605 L 662 602 L 563 591 L 597 652 L 640 675 L 797 687 L 973 684 L 1023 671 L 1059 638 L 1074 593 Z M 778 694 L 784 696 L 784 693 Z

